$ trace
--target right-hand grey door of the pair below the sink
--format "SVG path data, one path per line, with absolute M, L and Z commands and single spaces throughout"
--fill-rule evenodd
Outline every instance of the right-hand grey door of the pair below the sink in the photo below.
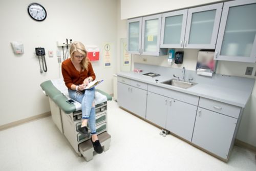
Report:
M 166 130 L 191 142 L 197 106 L 170 99 Z

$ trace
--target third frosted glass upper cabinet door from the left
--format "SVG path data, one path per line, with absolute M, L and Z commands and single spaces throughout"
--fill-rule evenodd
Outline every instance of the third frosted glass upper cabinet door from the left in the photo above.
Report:
M 187 10 L 162 15 L 161 48 L 183 48 Z

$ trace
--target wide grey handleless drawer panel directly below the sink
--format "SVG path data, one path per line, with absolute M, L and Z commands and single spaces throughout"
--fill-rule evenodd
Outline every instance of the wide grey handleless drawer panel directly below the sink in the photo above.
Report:
M 148 85 L 148 91 L 156 94 L 160 94 L 162 96 L 170 97 L 176 100 L 180 100 L 189 104 L 198 105 L 198 100 L 199 100 L 198 96 L 178 92 L 175 90 L 165 89 L 165 88 L 161 88 L 153 85 Z

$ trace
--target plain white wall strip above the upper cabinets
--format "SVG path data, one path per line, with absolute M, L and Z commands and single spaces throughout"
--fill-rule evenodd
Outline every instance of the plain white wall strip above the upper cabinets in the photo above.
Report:
M 121 0 L 121 19 L 150 15 L 221 1 L 222 0 Z

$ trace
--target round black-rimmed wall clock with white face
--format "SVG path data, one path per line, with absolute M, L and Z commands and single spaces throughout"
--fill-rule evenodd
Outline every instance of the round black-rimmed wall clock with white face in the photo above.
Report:
M 38 3 L 30 4 L 28 6 L 28 13 L 33 19 L 37 21 L 42 21 L 46 19 L 47 15 L 46 9 Z

